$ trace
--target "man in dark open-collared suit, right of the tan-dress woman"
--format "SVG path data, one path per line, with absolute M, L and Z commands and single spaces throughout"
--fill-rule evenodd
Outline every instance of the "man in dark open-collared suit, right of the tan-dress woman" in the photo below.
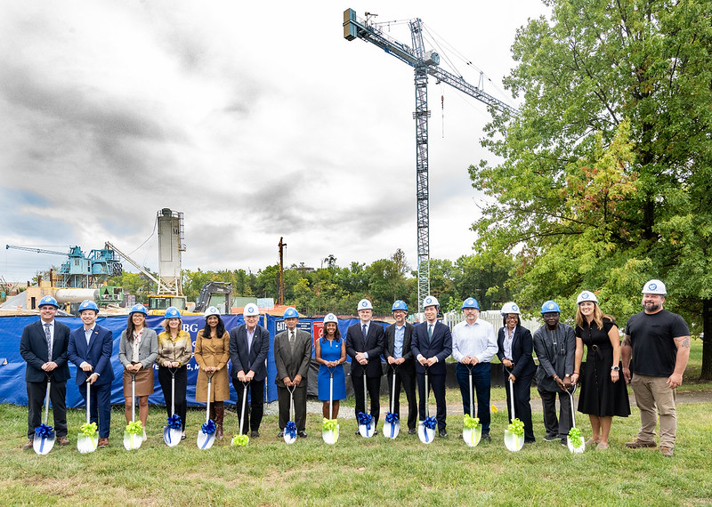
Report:
M 258 326 L 260 309 L 254 302 L 242 311 L 245 324 L 233 327 L 230 332 L 230 359 L 232 361 L 232 385 L 238 391 L 238 421 L 250 437 L 260 436 L 260 424 L 264 413 L 264 380 L 267 378 L 267 353 L 270 351 L 270 332 Z M 245 411 L 245 421 L 239 420 L 242 410 L 242 395 L 245 383 L 249 382 L 250 406 Z

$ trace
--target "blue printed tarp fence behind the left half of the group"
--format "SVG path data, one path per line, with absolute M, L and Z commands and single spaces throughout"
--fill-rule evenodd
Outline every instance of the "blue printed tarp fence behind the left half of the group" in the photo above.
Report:
M 235 326 L 244 324 L 244 319 L 241 315 L 223 315 L 225 329 L 232 329 Z M 26 363 L 20 356 L 20 337 L 22 329 L 28 324 L 38 320 L 38 317 L 4 317 L 0 318 L 0 403 L 12 403 L 14 405 L 27 406 L 28 394 L 25 383 L 25 368 Z M 266 322 L 265 322 L 266 320 Z M 80 318 L 57 318 L 57 321 L 66 324 L 70 329 L 77 329 L 82 326 Z M 160 333 L 163 328 L 160 326 L 163 322 L 161 316 L 149 316 L 146 319 L 146 326 Z M 299 328 L 312 334 L 312 338 L 320 338 L 321 319 L 300 318 Z M 339 319 L 339 331 L 343 337 L 346 336 L 348 326 L 358 322 L 358 319 L 348 318 Z M 193 339 L 193 348 L 195 349 L 195 339 L 198 331 L 205 326 L 205 319 L 202 316 L 183 316 L 183 329 L 190 333 Z M 124 404 L 124 384 L 122 375 L 124 366 L 118 361 L 118 342 L 121 337 L 121 332 L 126 328 L 126 317 L 108 317 L 97 318 L 97 324 L 111 330 L 114 334 L 114 349 L 111 355 L 111 365 L 114 368 L 116 378 L 111 386 L 111 403 L 117 405 Z M 379 323 L 384 325 L 383 323 Z M 284 319 L 272 317 L 271 315 L 263 315 L 260 317 L 260 325 L 264 326 L 270 332 L 270 353 L 267 355 L 267 382 L 265 389 L 266 401 L 274 401 L 277 399 L 277 386 L 274 383 L 274 377 L 277 375 L 277 368 L 274 364 L 274 336 L 279 334 L 287 327 L 284 324 Z M 313 357 L 313 352 L 312 352 Z M 350 358 L 347 358 L 350 360 Z M 230 365 L 231 367 L 231 365 Z M 158 366 L 154 365 L 154 370 L 158 372 Z M 71 362 L 69 363 L 69 373 L 71 379 L 67 381 L 67 406 L 77 407 L 84 406 L 84 399 L 79 394 L 77 384 L 74 382 L 77 374 L 77 367 Z M 158 373 L 154 376 L 155 390 L 150 395 L 149 403 L 155 405 L 164 405 L 163 391 L 158 383 Z M 205 404 L 197 403 L 195 400 L 195 384 L 198 378 L 198 365 L 195 358 L 190 359 L 188 365 L 188 405 L 189 406 L 205 406 Z M 316 379 L 313 379 L 316 382 Z M 230 385 L 230 401 L 228 403 L 235 404 L 238 396 Z

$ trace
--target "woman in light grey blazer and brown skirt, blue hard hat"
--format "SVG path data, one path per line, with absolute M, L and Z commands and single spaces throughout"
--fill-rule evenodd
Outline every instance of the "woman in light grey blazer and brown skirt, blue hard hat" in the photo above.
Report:
M 156 381 L 153 378 L 153 361 L 158 357 L 158 335 L 146 327 L 148 312 L 141 303 L 134 304 L 128 312 L 126 328 L 118 341 L 118 361 L 124 365 L 124 415 L 126 424 L 131 422 L 134 396 L 131 375 L 134 375 L 134 390 L 139 398 L 139 419 L 146 441 L 146 422 L 149 419 L 149 396 L 153 394 Z

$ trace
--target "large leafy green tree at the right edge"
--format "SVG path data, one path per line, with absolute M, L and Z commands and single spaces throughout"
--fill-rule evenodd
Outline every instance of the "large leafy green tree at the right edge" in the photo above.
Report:
M 667 307 L 712 335 L 712 4 L 549 0 L 551 20 L 517 32 L 506 86 L 524 103 L 471 166 L 496 202 L 474 224 L 481 251 L 517 253 L 518 297 L 573 310 L 592 289 L 625 319 L 647 278 Z M 704 378 L 712 378 L 705 342 Z

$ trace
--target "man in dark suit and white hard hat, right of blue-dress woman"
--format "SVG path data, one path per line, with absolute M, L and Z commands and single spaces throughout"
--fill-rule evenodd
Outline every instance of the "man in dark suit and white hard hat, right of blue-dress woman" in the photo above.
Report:
M 373 305 L 368 299 L 362 299 L 358 306 L 359 323 L 346 330 L 346 353 L 351 356 L 351 381 L 353 395 L 356 398 L 356 414 L 366 414 L 366 393 L 363 390 L 363 375 L 366 374 L 366 389 L 371 398 L 371 415 L 374 428 L 378 424 L 381 411 L 381 354 L 384 351 L 384 328 L 371 321 Z M 358 430 L 356 431 L 359 432 Z M 376 435 L 377 432 L 374 433 Z

